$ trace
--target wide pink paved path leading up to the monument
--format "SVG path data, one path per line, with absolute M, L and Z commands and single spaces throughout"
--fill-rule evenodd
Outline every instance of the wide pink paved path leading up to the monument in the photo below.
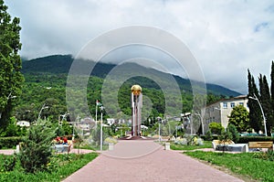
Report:
M 114 150 L 103 152 L 87 166 L 63 180 L 99 182 L 242 181 L 212 166 L 153 141 L 119 141 Z

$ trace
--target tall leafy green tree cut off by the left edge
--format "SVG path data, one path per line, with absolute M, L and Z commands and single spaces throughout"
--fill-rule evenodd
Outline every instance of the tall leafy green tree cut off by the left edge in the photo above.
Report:
M 0 128 L 8 125 L 14 107 L 13 96 L 21 93 L 24 81 L 20 70 L 22 61 L 18 55 L 21 49 L 19 18 L 13 20 L 7 13 L 7 6 L 0 0 Z

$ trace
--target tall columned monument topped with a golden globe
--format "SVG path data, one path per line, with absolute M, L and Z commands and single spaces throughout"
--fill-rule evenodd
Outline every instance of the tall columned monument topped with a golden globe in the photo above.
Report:
M 141 136 L 142 87 L 132 86 L 132 136 Z

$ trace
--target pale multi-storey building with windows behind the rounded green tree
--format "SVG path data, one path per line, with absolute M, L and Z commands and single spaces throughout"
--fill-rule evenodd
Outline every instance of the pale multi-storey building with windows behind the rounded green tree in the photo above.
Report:
M 205 133 L 209 130 L 209 123 L 212 122 L 221 123 L 223 127 L 227 128 L 229 120 L 228 116 L 237 105 L 243 105 L 249 112 L 248 96 L 239 95 L 234 98 L 223 99 L 206 105 L 205 115 L 203 117 Z

